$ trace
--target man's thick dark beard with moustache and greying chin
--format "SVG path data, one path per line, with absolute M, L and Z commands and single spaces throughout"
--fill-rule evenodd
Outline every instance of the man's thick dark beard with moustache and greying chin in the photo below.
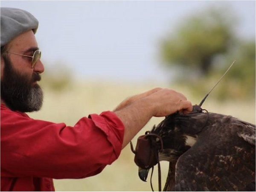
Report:
M 3 56 L 5 66 L 1 80 L 1 99 L 12 111 L 32 112 L 39 111 L 43 104 L 43 91 L 35 81 L 40 81 L 41 76 L 33 73 L 32 77 L 18 73 L 12 67 L 7 56 Z

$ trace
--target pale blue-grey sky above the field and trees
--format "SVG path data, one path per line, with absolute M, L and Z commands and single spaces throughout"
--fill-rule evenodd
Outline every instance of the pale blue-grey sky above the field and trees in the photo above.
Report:
M 255 39 L 255 1 L 4 1 L 39 20 L 36 38 L 45 69 L 68 66 L 83 79 L 166 81 L 158 42 L 191 14 L 227 7 L 236 33 Z

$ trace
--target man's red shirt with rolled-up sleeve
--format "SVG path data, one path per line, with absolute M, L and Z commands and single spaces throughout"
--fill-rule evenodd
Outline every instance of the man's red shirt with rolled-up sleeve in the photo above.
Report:
M 90 177 L 116 160 L 124 125 L 111 111 L 70 127 L 1 105 L 0 134 L 1 191 L 54 191 L 52 178 Z

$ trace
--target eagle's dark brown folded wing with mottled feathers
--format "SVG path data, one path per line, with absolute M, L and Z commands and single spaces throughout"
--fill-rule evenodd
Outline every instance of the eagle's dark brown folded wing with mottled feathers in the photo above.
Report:
M 175 189 L 255 191 L 255 145 L 237 134 L 251 133 L 253 125 L 219 114 L 215 119 L 214 114 L 209 114 L 211 124 L 198 134 L 195 145 L 177 160 Z

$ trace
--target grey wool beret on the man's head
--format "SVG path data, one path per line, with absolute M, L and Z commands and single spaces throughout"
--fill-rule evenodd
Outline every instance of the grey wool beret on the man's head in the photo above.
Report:
M 33 30 L 35 34 L 38 29 L 38 20 L 25 10 L 1 7 L 0 15 L 1 47 L 24 32 Z

